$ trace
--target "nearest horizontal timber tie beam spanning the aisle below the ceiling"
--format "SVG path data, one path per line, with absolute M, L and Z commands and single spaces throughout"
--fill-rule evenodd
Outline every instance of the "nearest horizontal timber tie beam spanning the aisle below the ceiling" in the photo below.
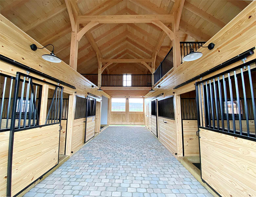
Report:
M 152 20 L 160 20 L 163 23 L 173 22 L 171 14 L 145 14 L 145 15 L 91 15 L 78 16 L 78 23 L 97 21 L 99 23 L 151 23 Z

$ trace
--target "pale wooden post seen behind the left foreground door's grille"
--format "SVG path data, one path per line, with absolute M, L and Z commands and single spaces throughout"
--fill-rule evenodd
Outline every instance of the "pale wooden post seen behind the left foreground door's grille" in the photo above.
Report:
M 45 124 L 47 116 L 47 102 L 48 102 L 48 89 L 49 85 L 44 84 L 42 88 L 42 99 L 41 99 L 41 109 L 39 117 L 39 125 Z

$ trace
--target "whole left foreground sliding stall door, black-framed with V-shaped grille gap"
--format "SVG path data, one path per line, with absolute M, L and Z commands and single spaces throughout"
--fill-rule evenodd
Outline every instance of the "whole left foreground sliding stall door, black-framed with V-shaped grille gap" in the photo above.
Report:
M 51 84 L 55 89 L 46 109 L 47 83 L 51 84 L 17 72 L 11 107 L 7 196 L 20 194 L 58 164 L 63 87 Z

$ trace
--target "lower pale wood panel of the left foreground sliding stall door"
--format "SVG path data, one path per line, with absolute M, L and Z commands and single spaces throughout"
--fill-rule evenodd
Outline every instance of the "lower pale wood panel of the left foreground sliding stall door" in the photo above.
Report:
M 12 196 L 58 163 L 58 148 L 59 124 L 14 133 Z

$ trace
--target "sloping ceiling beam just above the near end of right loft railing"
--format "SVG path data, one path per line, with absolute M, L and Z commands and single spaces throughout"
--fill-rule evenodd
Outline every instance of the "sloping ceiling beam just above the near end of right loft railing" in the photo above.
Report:
M 186 34 L 189 34 L 191 37 L 199 41 L 208 41 L 211 38 L 211 36 L 203 33 L 201 30 L 195 28 L 194 26 L 182 20 L 180 22 L 180 29 L 181 31 L 185 32 Z

